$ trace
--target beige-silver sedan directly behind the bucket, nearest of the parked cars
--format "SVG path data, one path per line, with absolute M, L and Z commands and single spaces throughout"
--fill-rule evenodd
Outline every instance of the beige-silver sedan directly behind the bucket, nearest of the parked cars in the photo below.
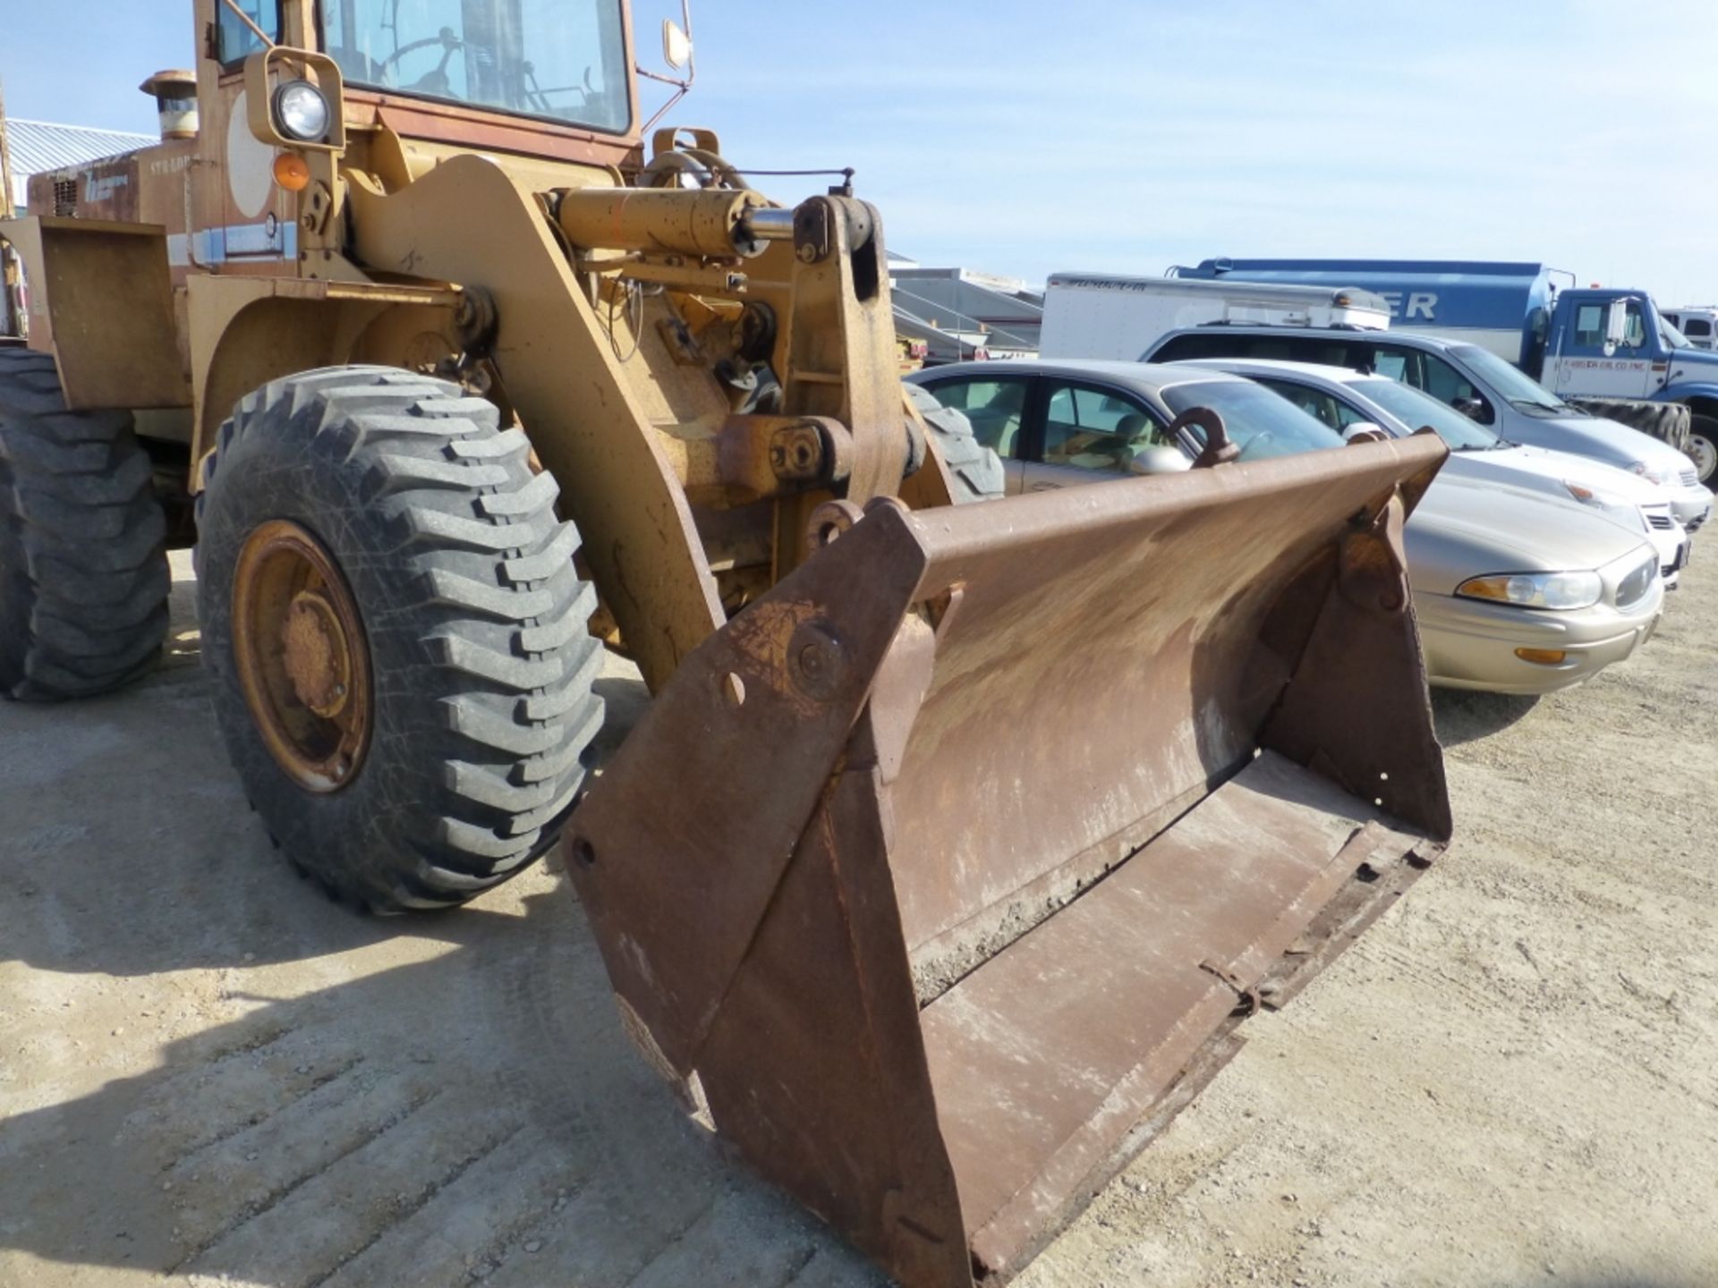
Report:
M 1343 447 L 1270 390 L 1149 362 L 957 362 L 911 374 L 967 414 L 1003 457 L 1008 491 L 1189 469 L 1192 407 L 1221 414 L 1240 460 Z M 1637 531 L 1575 501 L 1440 477 L 1404 536 L 1431 682 L 1544 694 L 1622 661 L 1663 611 L 1658 553 Z

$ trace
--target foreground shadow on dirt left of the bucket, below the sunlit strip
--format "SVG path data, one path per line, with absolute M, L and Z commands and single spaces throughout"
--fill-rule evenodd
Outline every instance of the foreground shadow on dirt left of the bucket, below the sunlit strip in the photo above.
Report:
M 270 1288 L 878 1283 L 632 1054 L 565 891 L 435 934 L 7 1118 L 0 1279 L 12 1252 Z

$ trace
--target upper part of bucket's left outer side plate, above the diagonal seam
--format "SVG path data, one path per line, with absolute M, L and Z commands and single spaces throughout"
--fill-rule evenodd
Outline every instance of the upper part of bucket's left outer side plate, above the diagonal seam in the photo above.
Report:
M 801 568 L 680 665 L 570 826 L 569 871 L 617 946 L 615 991 L 682 1073 L 924 567 L 899 519 L 859 524 L 833 550 L 847 558 Z M 744 792 L 742 766 L 766 790 Z

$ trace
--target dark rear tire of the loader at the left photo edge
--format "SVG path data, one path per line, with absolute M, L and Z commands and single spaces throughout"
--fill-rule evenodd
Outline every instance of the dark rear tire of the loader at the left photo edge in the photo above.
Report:
M 148 671 L 165 539 L 131 412 L 67 410 L 50 354 L 0 349 L 0 694 L 89 697 Z

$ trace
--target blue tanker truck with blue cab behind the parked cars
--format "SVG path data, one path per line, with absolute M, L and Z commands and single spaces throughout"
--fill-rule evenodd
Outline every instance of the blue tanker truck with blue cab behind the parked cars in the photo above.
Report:
M 1170 276 L 1362 287 L 1390 304 L 1392 330 L 1483 345 L 1560 398 L 1660 438 L 1677 438 L 1666 409 L 1687 407 L 1678 447 L 1718 491 L 1718 352 L 1691 345 L 1644 290 L 1577 289 L 1546 264 L 1440 259 L 1204 259 Z

